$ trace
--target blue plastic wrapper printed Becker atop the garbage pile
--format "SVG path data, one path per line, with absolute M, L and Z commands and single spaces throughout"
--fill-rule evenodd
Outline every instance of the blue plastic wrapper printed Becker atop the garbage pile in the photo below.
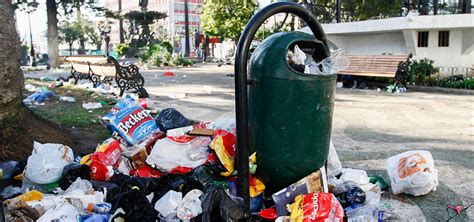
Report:
M 130 145 L 144 140 L 158 128 L 153 117 L 129 95 L 120 100 L 104 119 L 108 120 L 107 129 L 117 132 Z

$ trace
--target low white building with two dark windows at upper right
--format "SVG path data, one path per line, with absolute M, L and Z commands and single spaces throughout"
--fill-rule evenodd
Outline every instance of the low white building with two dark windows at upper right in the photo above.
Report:
M 459 74 L 474 66 L 474 14 L 409 15 L 323 24 L 323 29 L 348 55 L 413 53 L 416 59 L 434 60 L 443 70 L 455 67 Z

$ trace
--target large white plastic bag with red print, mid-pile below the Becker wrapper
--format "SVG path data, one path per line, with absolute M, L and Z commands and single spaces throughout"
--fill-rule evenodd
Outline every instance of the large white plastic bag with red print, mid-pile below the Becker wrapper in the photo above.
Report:
M 156 141 L 146 162 L 163 172 L 178 166 L 194 169 L 207 161 L 210 143 L 209 137 L 166 137 Z

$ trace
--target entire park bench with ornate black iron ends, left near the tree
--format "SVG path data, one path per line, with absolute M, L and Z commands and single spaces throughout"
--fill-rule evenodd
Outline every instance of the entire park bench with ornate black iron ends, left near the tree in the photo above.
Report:
M 71 77 L 74 78 L 74 84 L 81 79 L 87 79 L 95 88 L 100 83 L 113 86 L 113 81 L 115 81 L 120 89 L 120 96 L 129 89 L 135 89 L 147 95 L 143 88 L 145 79 L 136 65 L 121 66 L 113 57 L 102 55 L 66 56 L 64 61 L 71 63 Z

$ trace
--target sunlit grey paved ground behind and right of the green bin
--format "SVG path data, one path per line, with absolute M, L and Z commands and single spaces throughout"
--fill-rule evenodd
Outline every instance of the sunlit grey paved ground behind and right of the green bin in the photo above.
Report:
M 212 121 L 234 109 L 232 66 L 215 64 L 163 70 L 144 70 L 146 89 L 163 108 L 173 107 L 186 117 Z M 45 74 L 31 73 L 28 77 Z M 51 76 L 64 75 L 56 72 Z M 474 97 L 374 90 L 337 89 L 333 142 L 344 167 L 382 175 L 390 156 L 407 150 L 432 153 L 439 186 L 425 196 L 382 195 L 381 205 L 401 221 L 446 221 L 446 205 L 474 203 Z M 474 207 L 451 221 L 474 220 Z

